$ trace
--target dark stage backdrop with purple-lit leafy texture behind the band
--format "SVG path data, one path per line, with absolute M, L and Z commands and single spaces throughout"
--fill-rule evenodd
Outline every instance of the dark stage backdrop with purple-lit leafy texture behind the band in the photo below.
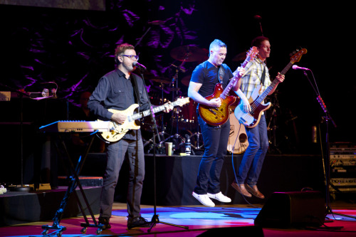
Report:
M 174 48 L 207 50 L 219 38 L 228 46 L 225 62 L 235 70 L 242 61 L 234 57 L 247 51 L 251 40 L 263 33 L 272 45 L 267 61 L 272 78 L 288 65 L 295 49 L 308 50 L 295 64 L 313 71 L 308 78 L 312 83 L 315 79 L 337 125 L 329 121 L 330 141 L 355 142 L 355 125 L 350 121 L 355 107 L 350 8 L 302 1 L 288 6 L 228 0 L 107 0 L 105 11 L 0 4 L 1 90 L 41 92 L 58 85 L 58 100 L 76 105 L 80 92 L 93 90 L 99 78 L 115 68 L 115 46 L 127 42 L 137 44 L 140 63 L 148 69 L 147 87 L 152 97 L 159 97 L 159 85 L 150 78 L 172 80 L 176 73 L 172 64 L 182 63 L 171 56 Z M 187 95 L 182 78 L 189 77 L 201 60 L 182 65 L 185 73 L 178 73 L 179 95 Z M 325 114 L 308 78 L 301 70 L 288 70 L 285 83 L 270 98 L 278 105 L 270 110 L 276 108 L 277 142 L 283 147 L 295 142 L 308 146 L 313 125 L 320 125 L 325 142 Z M 172 92 L 164 90 L 164 97 L 172 98 Z M 6 106 L 1 121 L 13 120 L 7 116 L 19 111 L 16 106 Z M 266 112 L 268 121 L 271 111 Z

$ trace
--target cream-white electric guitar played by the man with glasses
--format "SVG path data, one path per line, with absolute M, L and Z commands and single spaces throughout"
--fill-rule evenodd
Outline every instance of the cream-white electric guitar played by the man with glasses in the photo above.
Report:
M 179 98 L 176 101 L 172 102 L 171 105 L 173 105 L 173 107 L 175 106 L 183 106 L 185 104 L 189 103 L 189 97 L 187 98 Z M 126 134 L 126 132 L 128 132 L 129 130 L 138 130 L 140 129 L 140 125 L 137 125 L 135 120 L 140 120 L 142 117 L 146 117 L 148 115 L 150 115 L 151 110 L 145 110 L 142 112 L 137 112 L 134 114 L 135 109 L 138 107 L 139 105 L 137 104 L 133 104 L 130 105 L 130 107 L 128 107 L 126 110 L 114 110 L 114 109 L 109 109 L 110 112 L 113 113 L 117 113 L 120 112 L 122 114 L 127 115 L 127 118 L 125 120 L 125 122 L 123 122 L 121 125 L 118 124 L 117 122 L 110 122 L 110 131 L 109 132 L 102 132 L 101 136 L 103 137 L 103 139 L 107 140 L 108 142 L 117 142 L 118 140 L 120 140 L 122 137 L 124 137 L 124 135 Z M 152 111 L 154 113 L 156 112 L 160 112 L 165 110 L 166 107 L 164 105 L 159 105 L 157 107 L 153 107 Z M 100 120 L 99 120 L 100 121 Z

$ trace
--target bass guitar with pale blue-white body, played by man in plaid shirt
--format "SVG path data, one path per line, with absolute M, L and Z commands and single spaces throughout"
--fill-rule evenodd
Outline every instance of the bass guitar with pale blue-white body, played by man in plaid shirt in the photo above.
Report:
M 303 56 L 303 54 L 307 53 L 307 50 L 305 48 L 301 49 L 297 53 L 295 53 L 293 56 L 290 57 L 290 62 L 281 71 L 281 75 L 285 75 L 289 68 L 293 65 L 295 62 L 299 62 L 300 58 Z M 256 127 L 258 125 L 258 122 L 260 122 L 262 112 L 265 110 L 268 110 L 269 107 L 271 107 L 271 102 L 268 102 L 266 104 L 263 103 L 263 101 L 266 99 L 268 93 L 271 92 L 271 90 L 278 84 L 278 80 L 275 79 L 271 83 L 271 85 L 266 88 L 266 90 L 263 91 L 263 86 L 258 85 L 251 94 L 251 97 L 248 98 L 248 102 L 250 102 L 251 106 L 251 112 L 244 112 L 244 107 L 242 105 L 242 102 L 238 106 L 236 106 L 236 109 L 234 111 L 235 117 L 241 122 L 241 124 L 245 125 L 246 127 Z

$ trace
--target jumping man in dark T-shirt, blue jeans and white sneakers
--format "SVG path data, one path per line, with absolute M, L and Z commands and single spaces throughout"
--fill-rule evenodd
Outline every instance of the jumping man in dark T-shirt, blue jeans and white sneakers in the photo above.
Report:
M 210 44 L 209 59 L 194 69 L 189 83 L 188 96 L 199 105 L 221 106 L 220 98 L 206 100 L 206 97 L 214 93 L 216 83 L 221 83 L 223 88 L 226 88 L 234 74 L 243 75 L 245 72 L 244 68 L 238 68 L 235 73 L 232 73 L 229 66 L 223 64 L 226 53 L 226 44 L 216 39 Z M 233 90 L 241 100 L 248 104 L 247 98 L 239 88 L 234 87 Z M 198 122 L 204 140 L 204 155 L 199 165 L 197 185 L 193 196 L 201 204 L 210 207 L 215 206 L 211 199 L 229 203 L 231 199 L 220 191 L 220 173 L 229 142 L 230 120 L 223 125 L 212 126 L 204 122 L 198 113 Z

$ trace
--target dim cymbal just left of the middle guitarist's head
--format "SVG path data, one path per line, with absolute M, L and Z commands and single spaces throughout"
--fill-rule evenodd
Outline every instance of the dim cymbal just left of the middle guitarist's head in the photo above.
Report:
M 179 46 L 173 48 L 170 55 L 175 60 L 185 61 L 185 62 L 194 62 L 194 61 L 203 61 L 208 58 L 208 53 L 204 48 L 198 48 L 196 46 Z

